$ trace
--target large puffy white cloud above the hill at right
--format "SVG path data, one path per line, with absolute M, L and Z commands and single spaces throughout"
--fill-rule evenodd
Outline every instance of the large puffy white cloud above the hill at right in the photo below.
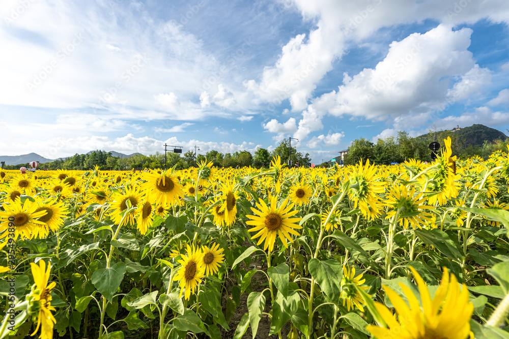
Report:
M 327 113 L 375 121 L 393 118 L 400 127 L 409 121 L 426 122 L 433 111 L 466 98 L 491 80 L 489 70 L 479 68 L 467 49 L 471 34 L 469 28 L 453 30 L 441 24 L 392 42 L 374 69 L 353 77 L 345 73 L 337 91 L 315 99 L 302 114 L 297 137 L 321 129 Z

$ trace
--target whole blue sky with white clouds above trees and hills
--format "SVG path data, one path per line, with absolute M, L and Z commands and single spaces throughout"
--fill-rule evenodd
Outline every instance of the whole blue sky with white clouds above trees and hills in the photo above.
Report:
M 505 0 L 3 0 L 0 18 L 0 155 L 292 136 L 320 162 L 359 137 L 509 129 Z

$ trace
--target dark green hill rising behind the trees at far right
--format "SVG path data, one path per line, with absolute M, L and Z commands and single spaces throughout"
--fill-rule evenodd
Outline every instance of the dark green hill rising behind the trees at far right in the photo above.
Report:
M 484 142 L 493 142 L 495 140 L 505 140 L 507 136 L 500 132 L 499 130 L 495 130 L 494 128 L 490 128 L 484 125 L 480 124 L 474 124 L 469 127 L 463 127 L 463 128 L 453 128 L 449 130 L 450 132 L 453 132 L 454 135 L 459 136 L 461 139 L 464 140 L 465 146 L 483 146 Z M 440 132 L 443 133 L 443 132 Z M 437 132 L 437 135 L 439 132 Z M 422 140 L 432 140 L 434 135 L 434 132 L 423 134 L 418 136 L 417 138 Z M 440 142 L 440 140 L 437 140 Z

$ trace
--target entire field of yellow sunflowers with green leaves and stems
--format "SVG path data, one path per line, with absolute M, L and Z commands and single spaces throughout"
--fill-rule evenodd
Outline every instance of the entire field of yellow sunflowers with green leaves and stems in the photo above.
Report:
M 0 170 L 0 339 L 509 338 L 509 154 Z

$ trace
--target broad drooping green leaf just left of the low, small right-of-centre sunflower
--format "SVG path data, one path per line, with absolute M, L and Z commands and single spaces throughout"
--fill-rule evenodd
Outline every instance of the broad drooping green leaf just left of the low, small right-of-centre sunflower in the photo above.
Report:
M 313 258 L 309 260 L 308 268 L 309 273 L 318 282 L 322 291 L 337 304 L 341 294 L 343 265 L 332 259 L 320 261 Z

